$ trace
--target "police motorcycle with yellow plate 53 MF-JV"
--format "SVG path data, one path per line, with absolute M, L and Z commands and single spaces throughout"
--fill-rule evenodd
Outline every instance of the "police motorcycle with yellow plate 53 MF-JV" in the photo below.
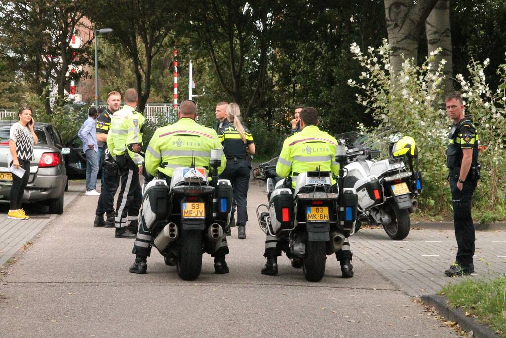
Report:
M 233 189 L 229 180 L 218 180 L 221 155 L 221 149 L 211 151 L 212 180 L 193 162 L 175 168 L 170 185 L 159 174 L 143 188 L 141 222 L 165 264 L 176 265 L 184 280 L 200 275 L 203 253 L 218 250 L 230 221 Z

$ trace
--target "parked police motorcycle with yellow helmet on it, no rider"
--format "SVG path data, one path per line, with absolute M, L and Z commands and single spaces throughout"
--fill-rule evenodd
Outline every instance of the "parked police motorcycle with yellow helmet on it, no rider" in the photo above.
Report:
M 410 230 L 409 214 L 416 210 L 416 197 L 422 190 L 416 142 L 411 137 L 402 137 L 390 143 L 388 159 L 376 160 L 381 151 L 350 142 L 347 136 L 349 133 L 336 138 L 347 146 L 345 187 L 357 191 L 355 231 L 367 223 L 383 226 L 393 239 L 404 239 Z

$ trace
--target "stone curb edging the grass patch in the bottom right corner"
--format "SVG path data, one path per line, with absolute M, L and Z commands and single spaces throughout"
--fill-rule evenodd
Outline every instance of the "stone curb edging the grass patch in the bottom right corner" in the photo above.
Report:
M 441 297 L 437 294 L 426 294 L 421 296 L 421 301 L 429 306 L 433 306 L 441 316 L 458 323 L 462 329 L 472 332 L 473 337 L 499 338 L 499 335 L 489 326 L 478 323 L 473 317 L 466 316 L 460 309 L 450 308 L 446 297 Z

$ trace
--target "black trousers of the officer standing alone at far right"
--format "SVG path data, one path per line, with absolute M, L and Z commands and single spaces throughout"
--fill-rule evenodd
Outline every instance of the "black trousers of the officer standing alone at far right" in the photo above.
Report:
M 450 176 L 451 200 L 453 204 L 453 227 L 457 240 L 457 255 L 455 262 L 462 266 L 473 264 L 475 254 L 475 228 L 471 215 L 471 204 L 477 181 L 468 178 L 463 183 L 462 190 L 457 188 L 458 177 Z

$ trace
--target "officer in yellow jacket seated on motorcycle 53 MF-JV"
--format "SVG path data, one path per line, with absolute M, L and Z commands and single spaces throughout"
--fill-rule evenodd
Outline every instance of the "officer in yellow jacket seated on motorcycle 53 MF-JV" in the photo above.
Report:
M 195 121 L 197 107 L 193 101 L 181 103 L 178 117 L 178 122 L 156 130 L 146 152 L 146 171 L 152 176 L 161 173 L 167 181 L 170 181 L 175 168 L 188 167 L 192 161 L 195 161 L 195 166 L 209 170 L 210 151 L 222 148 L 216 131 Z M 226 162 L 225 155 L 222 155 L 218 174 L 223 172 Z M 130 272 L 146 273 L 146 261 L 151 254 L 153 240 L 153 234 L 144 229 L 141 223 L 132 250 L 136 259 Z M 213 255 L 216 273 L 228 273 L 225 262 L 227 254 L 227 238 L 224 233 L 220 248 Z

